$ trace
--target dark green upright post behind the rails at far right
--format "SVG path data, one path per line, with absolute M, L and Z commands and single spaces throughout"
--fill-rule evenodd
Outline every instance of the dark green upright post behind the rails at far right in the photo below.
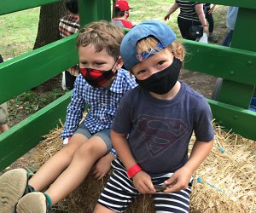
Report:
M 250 51 L 256 50 L 256 9 L 239 8 L 236 27 L 232 37 L 231 48 L 246 49 Z M 247 70 L 252 66 L 252 61 L 244 60 L 244 75 L 247 75 Z M 230 75 L 236 75 L 236 70 L 230 70 Z M 224 79 L 222 88 L 219 94 L 218 101 L 242 107 L 249 107 L 253 96 L 254 85 L 246 83 L 237 83 Z

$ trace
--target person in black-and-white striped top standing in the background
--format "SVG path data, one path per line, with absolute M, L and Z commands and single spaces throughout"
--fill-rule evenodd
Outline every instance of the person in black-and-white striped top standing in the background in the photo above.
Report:
M 204 32 L 208 34 L 207 20 L 205 17 L 203 3 L 194 3 L 185 0 L 176 0 L 172 4 L 168 13 L 165 16 L 165 20 L 170 19 L 170 15 L 177 9 L 180 9 L 180 13 L 177 16 L 177 25 L 181 32 L 181 35 L 185 39 L 195 40 L 190 37 L 189 29 L 191 26 L 203 26 Z

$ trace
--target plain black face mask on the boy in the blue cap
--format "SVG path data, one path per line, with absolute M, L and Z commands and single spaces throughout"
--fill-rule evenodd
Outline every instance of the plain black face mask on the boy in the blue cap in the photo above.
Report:
M 174 87 L 175 83 L 177 83 L 182 65 L 183 63 L 181 60 L 174 58 L 172 65 L 166 67 L 166 69 L 156 72 L 144 80 L 136 79 L 137 84 L 143 89 L 147 89 L 155 94 L 166 94 Z

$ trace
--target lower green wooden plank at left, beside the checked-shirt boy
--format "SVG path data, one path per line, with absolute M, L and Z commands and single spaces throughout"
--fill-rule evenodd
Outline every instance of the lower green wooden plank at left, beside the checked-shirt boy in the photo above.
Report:
M 64 124 L 71 93 L 61 96 L 0 135 L 0 170 L 35 147 L 42 141 L 42 136 L 49 134 L 57 124 L 60 126 L 59 119 Z

